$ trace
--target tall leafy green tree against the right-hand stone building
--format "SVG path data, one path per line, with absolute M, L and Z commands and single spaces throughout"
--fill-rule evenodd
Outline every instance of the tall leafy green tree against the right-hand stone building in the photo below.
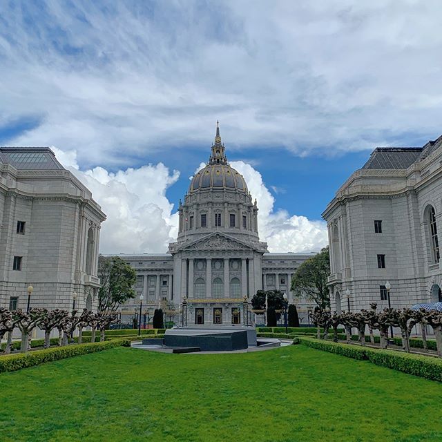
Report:
M 291 280 L 291 290 L 295 296 L 306 295 L 319 309 L 330 307 L 330 294 L 327 278 L 330 275 L 329 248 L 325 247 L 318 254 L 305 260 L 299 266 Z

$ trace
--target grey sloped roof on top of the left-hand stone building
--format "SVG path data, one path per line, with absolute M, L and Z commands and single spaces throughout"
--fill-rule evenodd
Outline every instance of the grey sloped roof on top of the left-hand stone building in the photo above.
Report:
M 0 163 L 19 170 L 64 169 L 48 147 L 0 147 Z

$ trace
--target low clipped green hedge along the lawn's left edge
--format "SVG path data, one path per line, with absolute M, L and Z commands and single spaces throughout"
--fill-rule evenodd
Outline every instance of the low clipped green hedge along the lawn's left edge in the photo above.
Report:
M 0 373 L 15 372 L 16 370 L 33 367 L 50 361 L 71 358 L 81 354 L 102 352 L 102 350 L 114 347 L 130 347 L 131 342 L 127 339 L 106 340 L 102 343 L 89 343 L 79 345 L 66 345 L 65 347 L 54 347 L 35 352 L 11 354 L 1 356 Z

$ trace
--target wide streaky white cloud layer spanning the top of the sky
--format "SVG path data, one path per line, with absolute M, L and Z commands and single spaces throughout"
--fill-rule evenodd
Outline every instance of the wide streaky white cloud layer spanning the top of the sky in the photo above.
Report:
M 245 157 L 432 137 L 441 18 L 431 0 L 9 2 L 0 126 L 32 120 L 8 141 L 113 168 L 158 146 L 202 146 L 217 118 Z

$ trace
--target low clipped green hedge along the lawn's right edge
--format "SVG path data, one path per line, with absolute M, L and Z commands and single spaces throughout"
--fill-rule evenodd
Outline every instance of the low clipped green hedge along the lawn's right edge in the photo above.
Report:
M 324 350 L 325 352 L 370 361 L 376 365 L 381 365 L 381 367 L 442 382 L 442 360 L 440 358 L 401 353 L 394 350 L 355 347 L 354 345 L 333 343 L 314 338 L 299 337 L 298 340 L 302 345 Z

